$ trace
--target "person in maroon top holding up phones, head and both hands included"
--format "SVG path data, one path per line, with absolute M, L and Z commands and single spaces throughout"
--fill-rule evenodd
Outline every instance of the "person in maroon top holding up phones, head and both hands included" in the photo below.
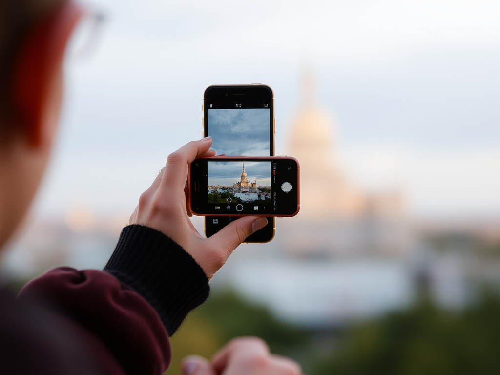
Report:
M 84 9 L 70 0 L 0 2 L 0 248 L 21 225 L 49 159 L 63 96 L 66 41 Z M 15 298 L 0 289 L 1 374 L 159 374 L 168 337 L 206 300 L 208 281 L 244 238 L 265 225 L 239 218 L 210 238 L 186 212 L 188 164 L 213 155 L 211 138 L 167 157 L 103 270 L 58 267 Z M 188 375 L 299 374 L 256 337 L 230 341 Z

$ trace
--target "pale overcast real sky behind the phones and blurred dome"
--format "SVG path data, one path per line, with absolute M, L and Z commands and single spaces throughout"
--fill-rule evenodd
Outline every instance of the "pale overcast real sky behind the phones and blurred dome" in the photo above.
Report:
M 201 137 L 211 84 L 270 85 L 286 154 L 305 70 L 353 181 L 400 186 L 417 217 L 500 214 L 500 2 L 94 3 L 107 21 L 67 66 L 36 214 L 131 212 L 168 153 Z

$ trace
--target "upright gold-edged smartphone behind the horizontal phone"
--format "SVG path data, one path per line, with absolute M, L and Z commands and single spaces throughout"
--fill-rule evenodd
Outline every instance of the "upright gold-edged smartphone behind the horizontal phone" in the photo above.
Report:
M 263 84 L 212 85 L 203 93 L 203 136 L 212 149 L 227 156 L 274 155 L 274 93 Z M 237 217 L 206 216 L 205 235 L 215 234 Z M 249 235 L 245 242 L 268 242 L 275 219 Z

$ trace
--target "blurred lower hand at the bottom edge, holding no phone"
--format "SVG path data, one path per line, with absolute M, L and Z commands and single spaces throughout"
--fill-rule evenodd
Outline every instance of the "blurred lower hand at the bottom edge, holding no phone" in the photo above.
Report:
M 258 337 L 237 337 L 229 341 L 208 362 L 198 355 L 182 360 L 184 375 L 300 375 L 295 361 L 269 353 Z

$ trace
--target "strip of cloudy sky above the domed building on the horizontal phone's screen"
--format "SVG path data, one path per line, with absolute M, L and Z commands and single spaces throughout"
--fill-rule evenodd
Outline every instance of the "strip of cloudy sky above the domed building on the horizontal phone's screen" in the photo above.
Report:
M 232 186 L 241 179 L 243 164 L 239 161 L 209 161 L 207 164 L 208 185 Z M 271 163 L 269 161 L 245 162 L 248 182 L 257 180 L 258 186 L 271 185 Z

